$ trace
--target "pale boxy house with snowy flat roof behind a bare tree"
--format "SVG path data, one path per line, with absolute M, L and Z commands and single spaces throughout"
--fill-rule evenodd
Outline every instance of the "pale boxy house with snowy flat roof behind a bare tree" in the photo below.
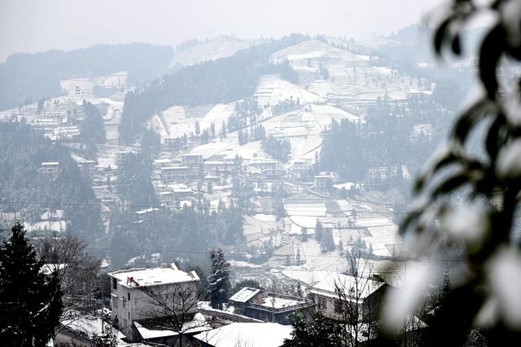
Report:
M 181 271 L 175 264 L 161 264 L 159 268 L 150 269 L 119 270 L 108 275 L 111 277 L 112 318 L 117 322 L 118 329 L 130 339 L 134 320 L 148 318 L 150 313 L 161 310 L 156 301 L 146 294 L 147 290 L 164 292 L 165 295 L 182 290 L 193 295 L 188 300 L 197 300 L 199 276 L 195 271 Z M 193 312 L 195 309 L 197 307 L 193 307 Z

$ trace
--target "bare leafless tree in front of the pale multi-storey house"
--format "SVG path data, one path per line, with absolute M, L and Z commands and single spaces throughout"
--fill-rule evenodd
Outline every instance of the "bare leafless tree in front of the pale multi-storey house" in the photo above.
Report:
M 204 319 L 197 319 L 199 295 L 197 282 L 164 285 L 138 286 L 149 296 L 150 307 L 142 316 L 155 329 L 170 330 L 178 334 L 178 344 L 183 346 L 183 335 L 208 326 Z M 145 323 L 146 324 L 146 323 Z

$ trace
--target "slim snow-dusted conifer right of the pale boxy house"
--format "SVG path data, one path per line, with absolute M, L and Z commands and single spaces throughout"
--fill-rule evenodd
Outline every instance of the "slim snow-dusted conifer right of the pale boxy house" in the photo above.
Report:
M 210 250 L 212 270 L 208 277 L 208 294 L 213 308 L 222 309 L 230 292 L 230 263 L 226 261 L 223 250 Z

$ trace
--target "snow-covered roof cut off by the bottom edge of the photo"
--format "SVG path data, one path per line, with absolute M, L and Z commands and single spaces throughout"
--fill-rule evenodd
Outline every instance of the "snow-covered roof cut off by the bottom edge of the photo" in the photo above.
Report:
M 291 338 L 292 329 L 276 323 L 232 323 L 194 337 L 214 347 L 279 347 Z

